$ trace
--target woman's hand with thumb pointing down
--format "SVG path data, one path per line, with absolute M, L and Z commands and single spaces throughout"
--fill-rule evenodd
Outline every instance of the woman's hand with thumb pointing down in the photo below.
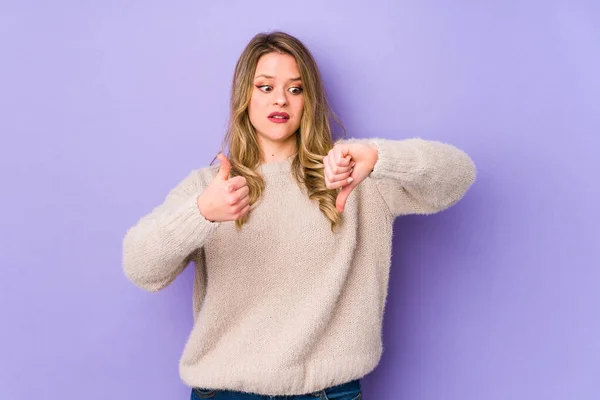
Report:
M 323 159 L 325 185 L 328 189 L 342 188 L 335 207 L 344 211 L 350 192 L 365 180 L 377 162 L 377 147 L 370 143 L 338 143 Z

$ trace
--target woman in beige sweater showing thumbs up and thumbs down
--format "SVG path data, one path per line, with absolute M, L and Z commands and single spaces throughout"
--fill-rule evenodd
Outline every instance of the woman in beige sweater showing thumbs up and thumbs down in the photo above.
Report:
M 361 398 L 382 354 L 394 219 L 444 210 L 475 179 L 448 144 L 334 143 L 330 117 L 307 48 L 256 35 L 235 68 L 229 156 L 125 235 L 125 273 L 146 290 L 194 262 L 192 398 Z

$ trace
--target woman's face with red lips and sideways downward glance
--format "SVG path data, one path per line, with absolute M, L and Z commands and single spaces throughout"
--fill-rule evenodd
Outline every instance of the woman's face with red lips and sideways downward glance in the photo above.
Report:
M 269 53 L 258 60 L 248 114 L 259 142 L 283 144 L 295 140 L 304 109 L 302 92 L 294 57 Z

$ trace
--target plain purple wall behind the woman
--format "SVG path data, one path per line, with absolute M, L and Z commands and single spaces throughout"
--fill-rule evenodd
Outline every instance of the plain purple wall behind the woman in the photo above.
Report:
M 189 396 L 192 269 L 143 292 L 121 240 L 212 160 L 272 29 L 349 136 L 478 166 L 455 207 L 396 223 L 365 399 L 600 398 L 599 26 L 597 1 L 2 2 L 0 398 Z

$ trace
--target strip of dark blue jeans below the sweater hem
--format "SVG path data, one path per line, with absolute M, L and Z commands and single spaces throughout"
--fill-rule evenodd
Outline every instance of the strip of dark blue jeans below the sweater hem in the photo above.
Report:
M 190 400 L 361 400 L 362 398 L 359 379 L 342 383 L 341 385 L 331 386 L 313 393 L 291 396 L 268 396 L 208 388 L 193 388 L 190 396 Z

